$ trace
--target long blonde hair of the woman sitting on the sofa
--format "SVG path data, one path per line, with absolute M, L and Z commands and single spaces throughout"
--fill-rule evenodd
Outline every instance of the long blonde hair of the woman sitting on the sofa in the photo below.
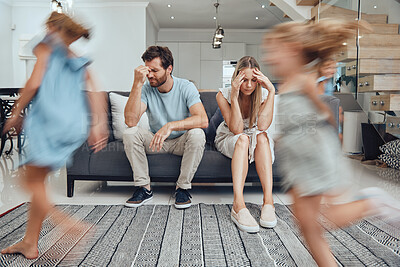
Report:
M 233 72 L 232 75 L 232 81 L 236 78 L 236 76 L 239 75 L 239 72 L 243 69 L 260 69 L 260 65 L 256 61 L 254 57 L 251 56 L 244 56 L 242 57 L 239 62 L 236 64 L 235 71 Z M 239 98 L 240 98 L 239 94 Z M 261 85 L 257 83 L 256 89 L 251 93 L 251 106 L 250 106 L 250 127 L 253 126 L 253 124 L 257 120 L 257 115 L 258 111 L 260 110 L 261 106 L 261 99 L 262 99 L 262 91 L 261 91 Z M 240 103 L 240 102 L 239 102 Z

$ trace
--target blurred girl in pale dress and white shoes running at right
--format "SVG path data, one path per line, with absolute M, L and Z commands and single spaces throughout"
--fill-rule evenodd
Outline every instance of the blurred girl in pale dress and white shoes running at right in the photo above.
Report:
M 268 63 L 282 79 L 277 106 L 281 137 L 276 140 L 276 155 L 284 188 L 293 197 L 294 214 L 319 266 L 337 266 L 318 223 L 321 199 L 338 195 L 338 190 L 343 192 L 349 169 L 341 156 L 335 119 L 317 94 L 316 66 L 354 36 L 358 23 L 284 23 L 268 33 L 264 43 Z M 337 227 L 344 227 L 367 215 L 400 209 L 380 189 L 367 188 L 360 194 L 360 200 L 328 205 L 324 216 Z

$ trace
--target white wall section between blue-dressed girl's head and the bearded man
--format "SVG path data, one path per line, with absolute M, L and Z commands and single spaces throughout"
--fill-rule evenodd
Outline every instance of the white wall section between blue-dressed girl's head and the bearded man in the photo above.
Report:
M 86 50 L 101 89 L 129 91 L 133 70 L 142 64 L 140 57 L 146 49 L 147 4 L 116 4 L 78 6 L 77 13 L 92 25 L 93 38 Z

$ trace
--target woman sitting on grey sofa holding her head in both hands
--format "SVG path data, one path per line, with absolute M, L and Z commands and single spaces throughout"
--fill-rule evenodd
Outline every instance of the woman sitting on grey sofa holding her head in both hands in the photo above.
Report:
M 273 118 L 274 97 L 275 87 L 250 56 L 237 63 L 232 87 L 221 89 L 217 94 L 224 122 L 217 129 L 215 146 L 232 159 L 234 199 L 231 219 L 245 232 L 259 231 L 259 225 L 246 208 L 243 197 L 248 167 L 253 161 L 264 192 L 260 225 L 274 227 L 277 222 L 272 198 L 274 143 L 267 132 Z

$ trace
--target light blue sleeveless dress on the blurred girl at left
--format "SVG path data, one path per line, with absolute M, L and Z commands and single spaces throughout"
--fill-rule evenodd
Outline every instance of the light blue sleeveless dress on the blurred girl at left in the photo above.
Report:
M 27 145 L 21 165 L 57 170 L 88 136 L 90 113 L 84 89 L 89 60 L 69 57 L 57 34 L 47 35 L 41 43 L 52 53 L 24 123 Z

